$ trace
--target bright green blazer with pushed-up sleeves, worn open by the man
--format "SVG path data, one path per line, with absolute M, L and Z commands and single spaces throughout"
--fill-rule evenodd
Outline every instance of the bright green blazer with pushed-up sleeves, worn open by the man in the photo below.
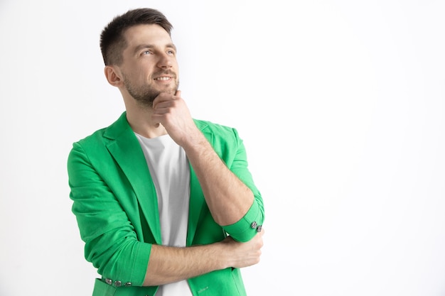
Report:
M 247 168 L 245 146 L 234 128 L 195 120 L 228 168 L 254 193 L 247 214 L 230 226 L 213 219 L 191 168 L 187 246 L 221 241 L 230 235 L 249 241 L 262 225 L 264 207 Z M 68 156 L 73 213 L 85 241 L 85 258 L 102 279 L 93 296 L 154 295 L 158 287 L 142 287 L 151 246 L 161 244 L 156 190 L 124 112 L 107 128 L 73 144 Z M 256 223 L 253 223 L 256 222 Z M 215 270 L 188 279 L 193 295 L 246 295 L 240 270 Z

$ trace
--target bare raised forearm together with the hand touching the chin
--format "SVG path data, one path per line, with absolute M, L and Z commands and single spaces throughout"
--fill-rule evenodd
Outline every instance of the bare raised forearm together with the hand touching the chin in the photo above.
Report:
M 213 219 L 221 226 L 234 224 L 250 209 L 254 194 L 215 153 L 195 126 L 181 92 L 160 94 L 154 101 L 155 122 L 186 151 Z

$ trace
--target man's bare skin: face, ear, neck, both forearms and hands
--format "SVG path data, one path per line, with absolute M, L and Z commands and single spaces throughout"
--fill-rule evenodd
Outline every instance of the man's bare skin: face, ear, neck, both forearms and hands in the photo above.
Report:
M 239 221 L 254 201 L 252 191 L 225 166 L 195 126 L 178 90 L 176 47 L 170 35 L 158 25 L 133 26 L 124 35 L 128 46 L 122 65 L 106 66 L 104 72 L 109 84 L 122 93 L 133 131 L 146 138 L 168 133 L 185 150 L 215 221 L 222 226 Z M 146 92 L 150 94 L 139 97 Z M 153 245 L 144 285 L 254 265 L 259 262 L 263 234 L 264 230 L 247 243 L 229 236 L 205 246 Z

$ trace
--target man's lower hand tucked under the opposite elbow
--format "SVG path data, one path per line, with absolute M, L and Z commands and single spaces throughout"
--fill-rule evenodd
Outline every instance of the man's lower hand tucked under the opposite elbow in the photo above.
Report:
M 234 241 L 230 236 L 221 241 L 227 247 L 228 267 L 243 268 L 259 263 L 263 246 L 263 234 L 264 229 L 245 243 Z

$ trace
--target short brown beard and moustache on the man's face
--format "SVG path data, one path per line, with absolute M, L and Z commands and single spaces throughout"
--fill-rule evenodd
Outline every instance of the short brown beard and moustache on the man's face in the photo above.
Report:
M 153 108 L 153 101 L 161 92 L 168 92 L 169 94 L 175 94 L 179 87 L 179 81 L 176 80 L 176 75 L 171 72 L 156 73 L 156 75 L 168 74 L 173 78 L 169 87 L 165 89 L 156 89 L 153 84 L 135 85 L 131 82 L 127 75 L 124 75 L 124 85 L 127 88 L 127 92 L 138 102 L 141 106 Z

